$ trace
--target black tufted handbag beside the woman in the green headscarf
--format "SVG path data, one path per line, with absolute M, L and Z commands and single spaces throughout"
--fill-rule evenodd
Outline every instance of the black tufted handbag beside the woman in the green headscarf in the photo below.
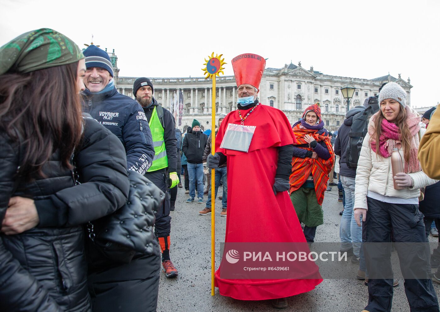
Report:
M 95 243 L 108 248 L 96 248 L 90 239 L 86 240 L 91 271 L 95 271 L 95 268 L 129 263 L 133 257 L 159 255 L 153 226 L 165 194 L 140 173 L 129 170 L 128 175 L 128 202 L 115 213 L 93 222 Z M 112 246 L 108 242 L 112 242 Z M 106 253 L 110 253 L 110 257 L 107 257 Z

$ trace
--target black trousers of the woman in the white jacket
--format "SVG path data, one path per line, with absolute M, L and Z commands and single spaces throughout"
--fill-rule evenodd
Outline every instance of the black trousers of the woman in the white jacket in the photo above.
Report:
M 425 224 L 423 214 L 418 210 L 418 205 L 389 204 L 367 197 L 367 218 L 363 222 L 363 242 L 391 242 L 391 231 L 396 243 L 399 242 L 425 242 Z M 379 244 L 378 244 L 379 245 Z M 364 245 L 365 246 L 365 245 Z M 392 304 L 392 279 L 374 279 L 378 268 L 392 272 L 391 248 L 365 249 L 368 279 L 368 305 L 365 310 L 369 312 L 389 312 Z M 382 246 L 382 245 L 381 245 Z M 429 257 L 423 255 L 425 251 L 414 250 L 405 252 L 397 247 L 400 268 L 404 276 L 411 275 L 411 270 L 429 270 Z M 405 264 L 403 264 L 403 259 Z M 411 265 L 407 265 L 411 264 Z M 403 283 L 405 294 L 411 312 L 439 312 L 437 296 L 431 279 L 405 279 Z

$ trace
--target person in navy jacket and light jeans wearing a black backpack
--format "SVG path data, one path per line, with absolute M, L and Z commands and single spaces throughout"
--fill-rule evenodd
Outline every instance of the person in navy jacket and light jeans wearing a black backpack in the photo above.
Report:
M 357 113 L 365 110 L 363 106 L 356 106 L 345 114 L 344 123 L 337 131 L 334 143 L 334 153 L 340 156 L 339 177 L 345 190 L 345 207 L 342 213 L 339 237 L 341 238 L 341 251 L 347 251 L 348 255 L 353 255 L 352 263 L 359 263 L 360 243 L 362 242 L 362 228 L 358 227 L 354 220 L 353 204 L 355 200 L 355 178 L 356 169 L 347 166 L 347 145 L 349 141 L 348 133 L 353 123 L 353 117 Z M 363 268 L 365 277 L 365 268 Z

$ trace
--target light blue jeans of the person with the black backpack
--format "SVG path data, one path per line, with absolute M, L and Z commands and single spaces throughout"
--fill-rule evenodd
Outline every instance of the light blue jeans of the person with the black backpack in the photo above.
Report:
M 339 237 L 341 238 L 341 250 L 350 250 L 359 257 L 360 244 L 362 243 L 362 227 L 356 224 L 353 204 L 355 201 L 355 178 L 341 176 L 341 183 L 345 191 L 345 207 L 342 213 Z M 361 220 L 362 223 L 362 220 Z

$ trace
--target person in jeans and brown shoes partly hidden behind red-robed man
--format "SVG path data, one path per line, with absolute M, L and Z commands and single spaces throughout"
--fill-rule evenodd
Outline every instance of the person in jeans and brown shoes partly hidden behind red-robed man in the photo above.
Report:
M 221 122 L 223 121 L 224 117 L 226 117 L 226 114 L 220 114 L 219 117 L 219 127 L 221 125 Z M 218 128 L 216 128 L 216 134 L 218 132 Z M 211 140 L 212 140 L 212 134 L 209 135 L 208 142 L 206 143 L 205 152 L 203 153 L 203 162 L 206 162 L 206 158 L 209 154 L 211 154 Z M 220 142 L 217 142 L 216 144 L 219 144 Z M 226 169 L 226 162 L 224 162 L 223 165 L 220 165 L 218 168 L 215 169 L 216 173 L 216 187 L 215 187 L 215 197 L 217 198 L 217 191 L 219 188 L 220 181 L 223 184 L 223 197 L 221 198 L 221 204 L 222 204 L 222 211 L 220 213 L 221 217 L 226 217 L 226 208 L 227 208 L 227 169 Z M 211 169 L 209 169 L 211 170 Z M 206 207 L 202 211 L 199 211 L 199 215 L 206 215 L 211 213 L 211 193 L 208 192 L 208 200 L 206 201 Z

